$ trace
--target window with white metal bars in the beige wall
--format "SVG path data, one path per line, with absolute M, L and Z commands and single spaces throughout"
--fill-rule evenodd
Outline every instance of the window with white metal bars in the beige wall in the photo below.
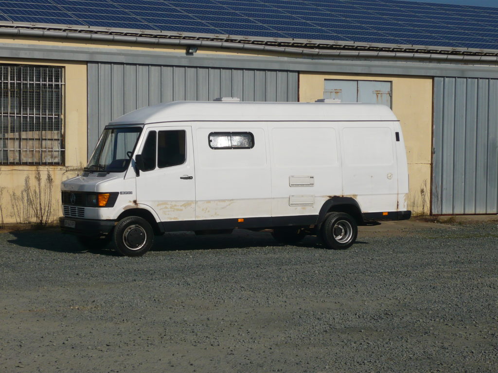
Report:
M 62 165 L 64 71 L 0 64 L 0 165 Z

